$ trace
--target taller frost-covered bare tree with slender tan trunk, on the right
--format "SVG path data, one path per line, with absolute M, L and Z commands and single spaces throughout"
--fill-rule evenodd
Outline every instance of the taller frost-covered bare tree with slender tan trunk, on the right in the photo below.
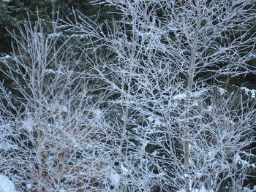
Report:
M 92 39 L 91 64 L 118 111 L 112 133 L 119 172 L 128 170 L 119 191 L 241 191 L 249 166 L 236 156 L 255 140 L 255 104 L 226 94 L 230 79 L 255 73 L 255 1 L 94 3 L 121 20 L 78 12 L 65 24 Z

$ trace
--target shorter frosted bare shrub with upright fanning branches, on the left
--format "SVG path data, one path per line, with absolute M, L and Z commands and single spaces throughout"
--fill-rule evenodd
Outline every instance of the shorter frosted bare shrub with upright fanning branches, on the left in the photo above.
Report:
M 77 70 L 72 42 L 47 36 L 40 22 L 12 37 L 11 61 L 2 60 L 13 89 L 0 84 L 0 173 L 20 191 L 100 191 L 113 161 L 89 71 Z

